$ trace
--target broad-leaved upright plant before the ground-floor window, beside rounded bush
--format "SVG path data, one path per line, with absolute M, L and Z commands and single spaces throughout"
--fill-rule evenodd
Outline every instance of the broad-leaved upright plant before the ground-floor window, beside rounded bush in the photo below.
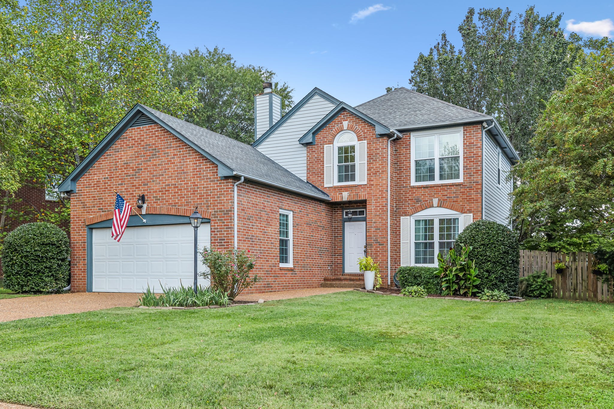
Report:
M 441 253 L 437 254 L 437 273 L 441 279 L 441 294 L 444 296 L 459 294 L 471 297 L 475 287 L 480 284 L 475 262 L 468 258 L 470 251 L 471 247 L 463 246 L 458 253 L 451 248 L 445 258 Z

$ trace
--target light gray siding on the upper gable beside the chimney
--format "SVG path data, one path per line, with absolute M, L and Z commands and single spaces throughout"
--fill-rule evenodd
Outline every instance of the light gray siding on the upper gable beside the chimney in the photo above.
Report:
M 257 149 L 301 179 L 307 180 L 306 148 L 298 140 L 334 107 L 324 98 L 314 95 Z

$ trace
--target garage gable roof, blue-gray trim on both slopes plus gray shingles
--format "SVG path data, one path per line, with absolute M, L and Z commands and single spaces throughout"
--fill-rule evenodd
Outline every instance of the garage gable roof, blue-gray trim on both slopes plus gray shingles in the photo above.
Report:
M 143 115 L 146 117 L 143 118 Z M 330 197 L 324 191 L 311 183 L 305 182 L 250 145 L 141 104 L 134 105 L 133 109 L 122 118 L 122 121 L 98 143 L 90 155 L 60 184 L 59 190 L 74 192 L 79 178 L 103 156 L 126 129 L 138 123 L 137 121 L 147 122 L 148 119 L 159 124 L 198 153 L 214 162 L 217 165 L 220 178 L 244 176 L 247 179 L 287 191 L 326 201 L 330 200 Z

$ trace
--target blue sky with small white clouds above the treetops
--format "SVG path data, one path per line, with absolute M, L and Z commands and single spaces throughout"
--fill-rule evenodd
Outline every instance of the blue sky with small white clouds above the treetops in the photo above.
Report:
M 614 36 L 612 1 L 542 1 L 542 14 L 563 13 L 562 26 Z M 177 52 L 219 45 L 241 64 L 263 66 L 289 83 L 298 101 L 314 86 L 357 105 L 408 85 L 414 61 L 442 31 L 460 45 L 468 7 L 527 2 L 459 1 L 189 1 L 153 0 L 160 39 Z M 573 20 L 567 23 L 568 20 Z

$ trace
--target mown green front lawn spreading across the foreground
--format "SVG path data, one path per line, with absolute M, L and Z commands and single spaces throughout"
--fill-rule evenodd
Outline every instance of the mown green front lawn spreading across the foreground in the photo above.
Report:
M 614 305 L 358 291 L 0 323 L 0 401 L 53 408 L 612 408 Z

